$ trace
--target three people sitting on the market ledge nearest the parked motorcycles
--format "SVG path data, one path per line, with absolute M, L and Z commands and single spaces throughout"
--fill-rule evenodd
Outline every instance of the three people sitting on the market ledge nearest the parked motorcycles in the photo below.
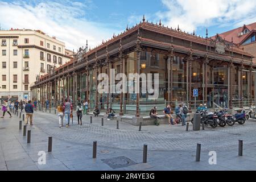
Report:
M 150 117 L 155 118 L 155 125 L 159 126 L 159 124 L 160 124 L 159 119 L 161 119 L 161 118 L 158 116 L 158 113 L 156 112 L 156 108 L 157 107 L 155 106 L 150 110 Z M 174 117 L 172 116 L 170 105 L 167 105 L 164 108 L 163 113 L 168 118 L 169 125 L 176 125 L 179 123 L 179 120 L 181 121 L 182 126 L 186 125 L 188 107 L 184 103 L 181 103 L 175 109 L 175 114 L 177 116 L 177 119 L 174 119 Z

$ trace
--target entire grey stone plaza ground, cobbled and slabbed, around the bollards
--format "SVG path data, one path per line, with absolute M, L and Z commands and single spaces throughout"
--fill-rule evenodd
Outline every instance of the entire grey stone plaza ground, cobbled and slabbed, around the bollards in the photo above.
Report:
M 2 111 L 0 111 L 2 115 Z M 24 114 L 24 112 L 23 112 Z M 74 114 L 76 116 L 76 114 Z M 138 126 L 107 121 L 101 117 L 82 118 L 82 126 L 59 128 L 56 114 L 36 111 L 31 130 L 31 143 L 19 130 L 19 117 L 0 119 L 0 171 L 4 170 L 256 170 L 256 120 L 245 125 L 205 127 L 185 131 L 185 126 Z M 65 122 L 65 121 L 64 121 Z M 24 124 L 24 123 L 23 123 Z M 48 152 L 48 137 L 53 138 Z M 243 156 L 238 156 L 238 140 L 243 140 Z M 93 141 L 97 141 L 97 158 L 92 158 Z M 201 144 L 200 162 L 196 146 Z M 147 144 L 147 163 L 143 161 L 143 144 Z M 46 164 L 39 164 L 39 151 L 46 152 Z M 209 151 L 217 154 L 217 164 L 210 165 Z

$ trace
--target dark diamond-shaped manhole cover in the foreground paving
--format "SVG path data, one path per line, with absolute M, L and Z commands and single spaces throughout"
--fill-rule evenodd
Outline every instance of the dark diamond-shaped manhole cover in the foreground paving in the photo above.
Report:
M 128 159 L 125 156 L 119 156 L 117 158 L 111 158 L 111 159 L 102 159 L 102 161 L 105 164 L 108 164 L 113 169 L 127 167 L 127 166 L 137 164 L 137 163 L 133 162 L 133 160 Z

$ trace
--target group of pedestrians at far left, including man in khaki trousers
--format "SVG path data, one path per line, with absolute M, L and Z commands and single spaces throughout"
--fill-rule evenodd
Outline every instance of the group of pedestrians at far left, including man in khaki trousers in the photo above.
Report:
M 22 112 L 23 109 L 26 112 L 26 119 L 25 119 L 25 125 L 28 124 L 28 119 L 30 119 L 30 125 L 33 125 L 33 113 L 34 113 L 34 104 L 31 104 L 31 101 L 24 102 L 24 101 L 18 101 L 15 102 L 8 102 L 8 100 L 3 101 L 2 103 L 2 111 L 3 115 L 1 118 L 5 118 L 5 113 L 8 113 L 10 115 L 10 118 L 13 116 L 10 113 L 10 109 L 15 109 L 18 111 L 18 108 L 20 108 L 20 111 Z

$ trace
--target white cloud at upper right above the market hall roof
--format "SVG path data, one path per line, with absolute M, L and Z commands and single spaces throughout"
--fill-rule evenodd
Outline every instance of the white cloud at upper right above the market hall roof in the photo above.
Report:
M 256 1 L 250 0 L 162 0 L 167 11 L 157 12 L 170 27 L 192 32 L 198 27 L 207 27 L 232 22 L 241 26 L 243 22 L 255 20 Z M 245 20 L 247 19 L 247 20 Z

